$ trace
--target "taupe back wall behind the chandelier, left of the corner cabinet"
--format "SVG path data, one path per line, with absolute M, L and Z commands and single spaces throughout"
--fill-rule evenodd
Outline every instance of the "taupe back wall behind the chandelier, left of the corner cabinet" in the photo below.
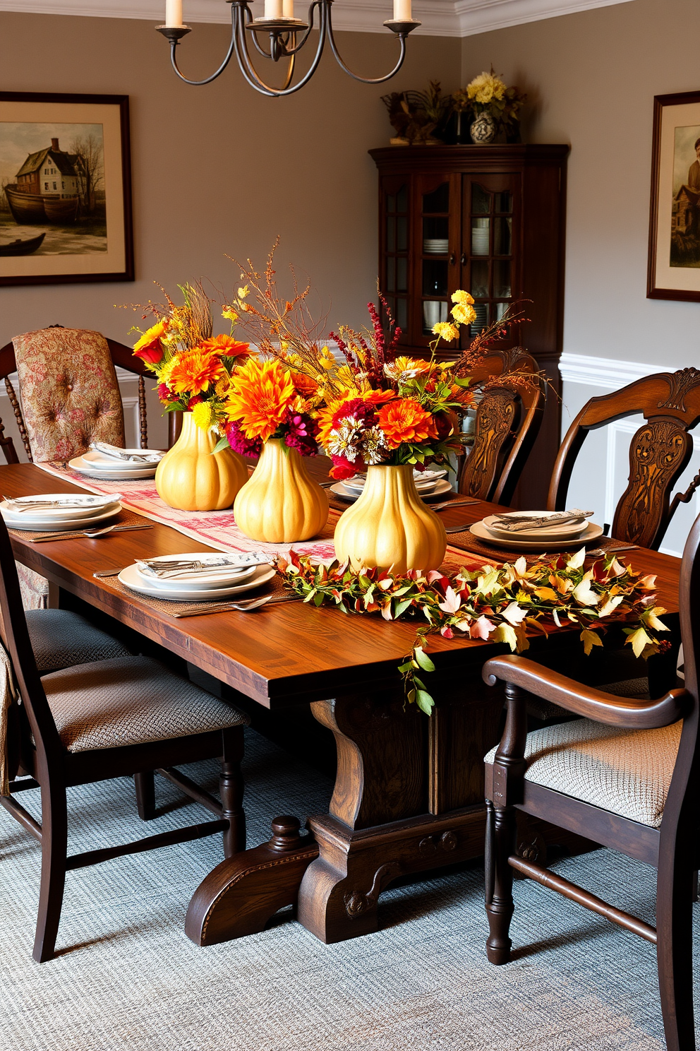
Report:
M 185 71 L 211 73 L 229 35 L 224 25 L 196 25 L 181 47 Z M 388 33 L 338 40 L 365 76 L 385 73 L 396 56 Z M 51 324 L 126 341 L 139 315 L 114 304 L 157 297 L 154 281 L 174 289 L 206 275 L 237 286 L 225 253 L 262 264 L 278 233 L 280 269 L 294 261 L 307 272 L 328 327 L 364 324 L 377 280 L 377 173 L 367 150 L 391 133 L 380 97 L 430 78 L 452 90 L 460 47 L 457 39 L 413 38 L 400 75 L 376 87 L 351 80 L 328 53 L 298 95 L 268 99 L 245 84 L 235 62 L 207 87 L 179 83 L 148 22 L 0 14 L 4 89 L 130 96 L 137 277 L 0 288 L 0 346 Z

